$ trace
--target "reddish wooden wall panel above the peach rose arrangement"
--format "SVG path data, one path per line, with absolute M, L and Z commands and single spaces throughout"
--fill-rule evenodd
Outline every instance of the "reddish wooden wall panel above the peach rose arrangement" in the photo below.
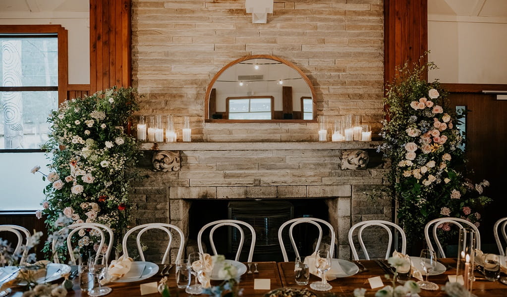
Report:
M 427 22 L 427 0 L 384 1 L 384 81 L 394 77 L 396 67 L 417 62 L 427 51 Z

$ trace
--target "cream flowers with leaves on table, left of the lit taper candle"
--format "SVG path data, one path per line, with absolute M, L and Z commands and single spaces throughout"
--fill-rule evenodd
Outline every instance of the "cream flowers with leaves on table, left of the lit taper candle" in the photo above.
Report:
M 410 262 L 405 258 L 400 257 L 390 257 L 387 259 L 387 263 L 394 268 L 394 275 L 392 278 L 389 277 L 388 274 L 385 277 L 391 280 L 392 285 L 385 286 L 378 290 L 375 293 L 375 297 L 410 297 L 410 296 L 419 296 L 418 293 L 421 291 L 419 285 L 413 281 L 406 281 L 403 286 L 395 286 L 396 276 L 398 273 L 398 269 L 405 267 L 407 265 L 410 266 Z M 354 289 L 354 297 L 365 297 L 366 289 L 365 288 L 356 288 Z

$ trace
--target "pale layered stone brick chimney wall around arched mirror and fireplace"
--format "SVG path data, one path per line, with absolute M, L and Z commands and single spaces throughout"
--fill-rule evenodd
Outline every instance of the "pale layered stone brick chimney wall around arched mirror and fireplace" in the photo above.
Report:
M 133 86 L 144 95 L 140 114 L 173 114 L 176 129 L 182 128 L 183 116 L 190 116 L 193 141 L 315 141 L 315 123 L 204 123 L 205 90 L 216 72 L 243 56 L 274 55 L 310 78 L 317 115 L 361 115 L 378 133 L 383 118 L 382 0 L 275 0 L 267 24 L 252 24 L 244 4 L 132 1 Z M 381 183 L 382 169 L 341 171 L 333 165 L 336 160 L 326 159 L 336 157 L 333 150 L 260 152 L 182 152 L 181 172 L 149 173 L 137 185 L 136 223 L 171 222 L 185 229 L 181 222 L 188 221 L 189 201 L 202 195 L 273 198 L 287 189 L 307 196 L 323 191 L 334 197 L 328 205 L 337 214 L 333 224 L 345 227 L 337 234 L 341 258 L 348 258 L 350 224 L 390 219 L 389 200 L 373 204 L 365 195 Z M 335 188 L 340 195 L 332 195 Z M 184 197 L 188 199 L 180 199 Z M 160 250 L 155 244 L 151 253 Z

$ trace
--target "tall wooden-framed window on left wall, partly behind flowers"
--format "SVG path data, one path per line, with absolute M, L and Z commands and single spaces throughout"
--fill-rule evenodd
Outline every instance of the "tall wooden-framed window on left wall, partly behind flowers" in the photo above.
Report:
M 0 210 L 34 210 L 46 182 L 30 177 L 26 187 L 27 173 L 48 163 L 41 149 L 48 139 L 47 118 L 66 99 L 67 30 L 0 25 L 0 49 L 0 180 L 9 197 Z

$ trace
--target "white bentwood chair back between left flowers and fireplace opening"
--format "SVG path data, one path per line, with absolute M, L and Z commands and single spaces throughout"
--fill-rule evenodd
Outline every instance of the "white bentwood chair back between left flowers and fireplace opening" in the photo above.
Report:
M 136 226 L 136 227 L 130 229 L 127 233 L 125 233 L 125 235 L 123 236 L 123 241 L 122 241 L 124 256 L 128 257 L 128 249 L 127 249 L 128 237 L 133 232 L 140 230 L 136 236 L 137 251 L 139 252 L 139 257 L 141 258 L 141 261 L 146 261 L 144 259 L 144 252 L 142 251 L 142 246 L 141 246 L 141 235 L 150 229 L 162 230 L 165 233 L 167 233 L 167 236 L 169 237 L 169 241 L 167 243 L 167 248 L 165 249 L 164 257 L 162 258 L 162 264 L 170 263 L 170 261 L 167 262 L 167 260 L 168 260 L 168 257 L 170 260 L 170 250 L 171 250 L 171 245 L 172 245 L 172 241 L 173 241 L 173 239 L 172 239 L 173 235 L 172 235 L 171 229 L 175 230 L 179 234 L 179 247 L 178 247 L 178 252 L 176 254 L 176 261 L 174 261 L 174 263 L 176 263 L 178 260 L 180 260 L 180 258 L 182 257 L 182 253 L 184 251 L 184 246 L 185 246 L 185 234 L 183 234 L 182 229 L 179 229 L 177 226 L 171 225 L 171 224 L 165 224 L 165 223 L 143 224 L 143 225 Z

